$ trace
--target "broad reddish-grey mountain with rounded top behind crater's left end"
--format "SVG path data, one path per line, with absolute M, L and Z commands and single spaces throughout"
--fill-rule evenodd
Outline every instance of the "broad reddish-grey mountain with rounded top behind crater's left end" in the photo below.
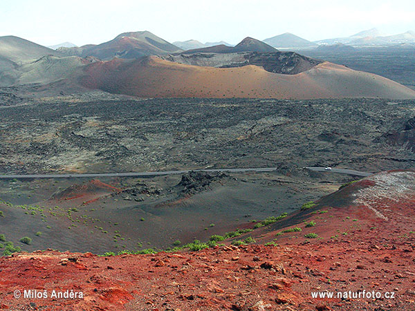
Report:
M 111 41 L 97 46 L 83 46 L 82 57 L 94 56 L 99 59 L 113 57 L 136 59 L 148 55 L 163 55 L 181 51 L 180 48 L 157 37 L 149 31 L 124 32 Z

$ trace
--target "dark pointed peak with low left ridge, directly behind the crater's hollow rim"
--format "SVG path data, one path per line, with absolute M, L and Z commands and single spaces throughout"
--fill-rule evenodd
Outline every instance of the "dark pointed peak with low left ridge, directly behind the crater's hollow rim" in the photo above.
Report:
M 186 50 L 183 54 L 193 53 L 238 53 L 238 52 L 257 52 L 257 53 L 274 53 L 278 50 L 268 44 L 257 39 L 246 37 L 236 46 L 209 46 L 208 48 L 196 48 L 193 50 Z

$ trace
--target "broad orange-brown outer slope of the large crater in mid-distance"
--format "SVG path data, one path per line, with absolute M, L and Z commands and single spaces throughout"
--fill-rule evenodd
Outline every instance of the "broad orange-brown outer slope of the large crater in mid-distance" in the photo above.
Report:
M 98 62 L 77 77 L 82 86 L 140 97 L 415 98 L 415 91 L 384 77 L 328 62 L 297 75 L 258 66 L 212 68 L 148 57 Z

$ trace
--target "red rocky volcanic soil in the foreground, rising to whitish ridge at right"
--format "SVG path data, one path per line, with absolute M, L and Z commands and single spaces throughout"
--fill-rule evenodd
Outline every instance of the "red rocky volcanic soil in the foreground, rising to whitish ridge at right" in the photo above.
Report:
M 32 303 L 37 310 L 414 310 L 415 172 L 379 173 L 316 204 L 250 232 L 257 245 L 1 258 L 0 308 L 33 310 Z M 291 227 L 302 231 L 278 234 Z M 311 233 L 318 238 L 304 237 Z M 261 245 L 274 238 L 278 245 Z M 82 291 L 84 298 L 13 297 L 15 290 L 29 289 Z M 363 290 L 380 298 L 311 294 Z M 394 298 L 385 298 L 390 292 Z

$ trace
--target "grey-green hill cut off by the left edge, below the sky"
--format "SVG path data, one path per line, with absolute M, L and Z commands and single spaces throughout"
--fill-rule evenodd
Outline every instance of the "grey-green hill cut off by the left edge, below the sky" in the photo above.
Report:
M 62 56 L 62 53 L 19 37 L 0 37 L 0 59 L 2 62 L 7 60 L 7 62 L 21 64 L 33 62 L 46 55 Z

